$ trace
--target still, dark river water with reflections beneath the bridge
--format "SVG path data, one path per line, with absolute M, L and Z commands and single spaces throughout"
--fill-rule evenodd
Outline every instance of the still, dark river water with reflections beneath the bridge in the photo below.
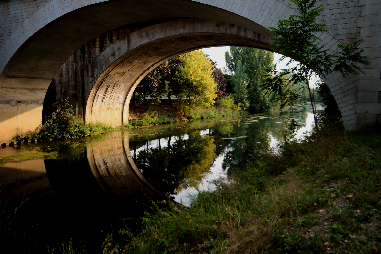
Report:
M 313 115 L 298 120 L 302 137 Z M 71 238 L 98 253 L 108 233 L 139 227 L 150 200 L 187 206 L 229 169 L 276 153 L 284 125 L 285 112 L 240 115 L 0 149 L 0 253 L 44 253 Z

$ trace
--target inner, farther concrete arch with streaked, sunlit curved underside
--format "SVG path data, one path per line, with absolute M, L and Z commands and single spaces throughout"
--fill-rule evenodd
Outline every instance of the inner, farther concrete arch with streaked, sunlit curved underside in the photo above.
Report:
M 86 122 L 128 123 L 128 105 L 141 79 L 178 54 L 208 46 L 250 46 L 269 50 L 269 38 L 240 26 L 188 18 L 155 24 L 123 37 L 85 70 Z

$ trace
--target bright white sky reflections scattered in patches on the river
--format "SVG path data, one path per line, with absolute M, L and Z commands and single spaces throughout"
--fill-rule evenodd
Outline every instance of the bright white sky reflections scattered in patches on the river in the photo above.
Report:
M 322 109 L 322 107 L 320 105 L 317 105 L 317 111 L 319 111 L 321 109 Z M 311 110 L 309 110 L 309 111 L 311 111 Z M 274 120 L 279 119 L 279 117 L 277 117 L 277 116 L 259 117 L 258 115 L 242 116 L 240 118 L 242 120 L 241 123 L 245 124 L 245 125 L 247 125 L 247 124 L 250 125 L 251 123 L 256 122 L 256 121 L 261 121 L 261 119 L 263 119 L 263 118 L 273 118 Z M 275 123 L 284 123 L 285 120 L 286 120 L 286 118 L 283 117 L 281 120 L 282 122 L 275 122 Z M 302 127 L 297 131 L 297 134 L 295 137 L 297 139 L 301 139 L 306 135 L 306 133 L 308 133 L 312 130 L 313 125 L 314 125 L 314 115 L 310 112 L 305 112 L 305 116 L 302 116 L 298 120 L 301 121 Z M 209 134 L 211 131 L 212 131 L 211 129 L 204 129 L 204 130 L 200 131 L 200 134 L 201 135 Z M 232 137 L 222 138 L 222 139 L 237 140 L 237 139 L 241 139 L 241 138 L 246 137 L 246 136 L 234 137 L 234 133 L 232 133 L 232 134 L 233 134 Z M 268 136 L 268 140 L 269 140 L 270 149 L 272 149 L 273 152 L 277 153 L 277 151 L 279 150 L 278 144 L 280 141 L 274 136 L 275 135 L 273 135 L 270 132 L 269 136 Z M 187 134 L 183 134 L 182 136 L 180 136 L 180 138 L 183 140 L 186 140 L 189 137 Z M 179 139 L 179 137 L 172 136 L 171 137 L 171 144 L 176 142 L 178 139 Z M 259 142 L 257 142 L 257 143 L 259 143 Z M 168 146 L 168 138 L 160 139 L 160 145 L 162 148 L 167 147 Z M 139 149 L 136 149 L 136 154 L 138 154 L 140 151 L 142 151 L 144 149 L 157 148 L 157 147 L 159 147 L 159 140 L 155 139 L 155 140 L 147 142 L 144 146 L 139 147 Z M 182 189 L 181 191 L 179 191 L 177 193 L 177 195 L 174 195 L 174 200 L 178 203 L 182 203 L 182 204 L 187 206 L 191 203 L 192 196 L 197 195 L 197 193 L 199 191 L 214 190 L 215 185 L 213 183 L 213 180 L 220 179 L 220 178 L 223 178 L 223 179 L 227 178 L 227 170 L 229 169 L 229 166 L 227 166 L 224 169 L 223 168 L 223 162 L 224 162 L 224 159 L 225 159 L 227 153 L 232 151 L 232 150 L 234 150 L 234 148 L 232 147 L 232 144 L 228 144 L 227 147 L 224 149 L 224 151 L 221 152 L 221 154 L 218 157 L 216 157 L 213 165 L 210 168 L 210 171 L 205 172 L 205 173 L 200 175 L 200 176 L 203 176 L 203 179 L 202 179 L 202 181 L 197 183 L 197 187 L 194 186 L 194 184 L 196 184 L 196 183 L 194 181 L 192 181 L 191 186 L 189 186 L 186 189 Z M 131 151 L 131 154 L 132 153 L 133 153 L 133 151 Z M 235 163 L 235 162 L 236 161 L 231 161 L 230 163 Z

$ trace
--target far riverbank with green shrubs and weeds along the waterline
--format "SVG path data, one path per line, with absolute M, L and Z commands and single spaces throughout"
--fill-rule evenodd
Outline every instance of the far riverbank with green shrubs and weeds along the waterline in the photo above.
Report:
M 136 105 L 130 106 L 129 123 L 120 127 L 112 127 L 107 123 L 85 123 L 81 118 L 74 115 L 68 99 L 60 100 L 53 104 L 51 115 L 44 116 L 44 124 L 34 131 L 16 135 L 10 141 L 0 142 L 1 147 L 13 145 L 28 145 L 36 142 L 67 140 L 77 137 L 99 135 L 105 131 L 116 129 L 139 128 L 166 123 L 198 120 L 213 117 L 225 117 L 243 113 L 239 105 L 234 104 L 230 97 L 224 97 L 216 101 L 214 106 L 195 109 L 182 102 L 177 105 Z

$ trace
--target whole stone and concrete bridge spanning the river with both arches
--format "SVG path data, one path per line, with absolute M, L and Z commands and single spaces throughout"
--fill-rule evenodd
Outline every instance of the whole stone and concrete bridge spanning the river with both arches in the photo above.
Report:
M 381 126 L 381 0 L 318 0 L 317 34 L 333 51 L 364 39 L 365 74 L 325 82 L 348 130 Z M 35 130 L 44 101 L 68 95 L 75 113 L 128 123 L 139 81 L 163 61 L 211 46 L 270 50 L 288 0 L 6 0 L 0 2 L 0 141 Z M 48 93 L 47 93 L 48 91 Z

